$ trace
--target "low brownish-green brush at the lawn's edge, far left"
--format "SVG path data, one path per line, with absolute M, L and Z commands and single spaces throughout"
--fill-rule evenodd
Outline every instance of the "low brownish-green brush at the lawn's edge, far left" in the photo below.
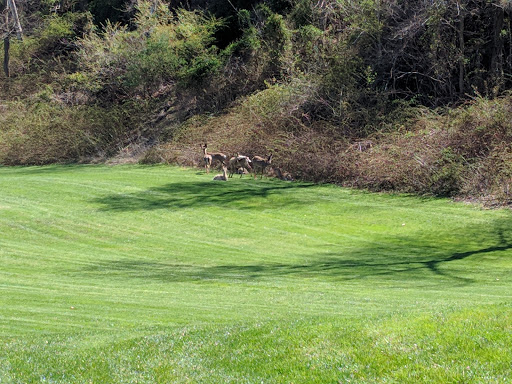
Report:
M 49 164 L 84 161 L 112 155 L 119 141 L 129 136 L 137 118 L 124 108 L 108 110 L 94 105 L 68 107 L 51 88 L 41 90 L 28 103 L 5 106 L 0 115 L 0 163 Z

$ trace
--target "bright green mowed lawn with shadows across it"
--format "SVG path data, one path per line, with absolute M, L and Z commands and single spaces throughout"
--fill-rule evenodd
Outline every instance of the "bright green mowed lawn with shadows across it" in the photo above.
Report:
M 512 382 L 512 213 L 0 168 L 0 383 Z

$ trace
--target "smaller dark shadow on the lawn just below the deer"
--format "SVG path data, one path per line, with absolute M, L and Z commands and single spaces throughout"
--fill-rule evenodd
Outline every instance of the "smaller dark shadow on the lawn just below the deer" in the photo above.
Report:
M 257 207 L 254 202 L 263 201 L 271 195 L 311 186 L 313 184 L 265 181 L 171 183 L 136 193 L 111 194 L 94 199 L 93 202 L 100 204 L 102 211 L 138 211 L 215 205 L 249 209 Z M 283 199 L 279 203 L 274 201 L 272 207 L 293 204 L 300 204 L 300 202 L 296 199 Z

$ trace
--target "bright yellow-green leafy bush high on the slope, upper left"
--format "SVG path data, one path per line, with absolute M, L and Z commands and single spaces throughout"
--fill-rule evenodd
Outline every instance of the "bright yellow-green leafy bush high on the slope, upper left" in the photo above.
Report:
M 221 61 L 212 45 L 219 21 L 197 12 L 173 15 L 162 3 L 138 3 L 136 29 L 107 23 L 81 40 L 79 60 L 104 97 L 147 96 L 162 84 L 200 84 Z M 91 89 L 91 87 L 89 87 Z

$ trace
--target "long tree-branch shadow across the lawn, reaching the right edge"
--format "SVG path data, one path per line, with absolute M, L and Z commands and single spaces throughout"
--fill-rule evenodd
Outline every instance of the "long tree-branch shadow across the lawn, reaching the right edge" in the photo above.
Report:
M 506 226 L 505 226 L 506 224 Z M 194 280 L 259 280 L 275 277 L 318 278 L 324 280 L 350 281 L 366 278 L 389 278 L 399 281 L 428 281 L 468 285 L 486 279 L 484 263 L 480 270 L 476 264 L 455 264 L 468 258 L 483 256 L 491 252 L 512 249 L 512 226 L 510 221 L 496 227 L 492 235 L 483 236 L 485 244 L 492 246 L 465 252 L 448 252 L 435 245 L 419 245 L 414 240 L 404 240 L 398 245 L 380 245 L 357 249 L 348 253 L 331 253 L 329 257 L 312 255 L 305 263 L 261 263 L 248 265 L 199 266 L 143 260 L 117 260 L 90 266 L 85 272 L 106 274 L 109 277 L 156 279 L 163 282 L 186 282 Z M 471 237 L 470 232 L 469 238 Z M 400 256 L 398 256 L 400 255 Z M 505 256 L 505 255 L 504 255 Z M 215 255 L 212 255 L 215 259 Z M 478 267 L 480 268 L 480 267 Z M 492 270 L 492 268 L 491 268 Z

